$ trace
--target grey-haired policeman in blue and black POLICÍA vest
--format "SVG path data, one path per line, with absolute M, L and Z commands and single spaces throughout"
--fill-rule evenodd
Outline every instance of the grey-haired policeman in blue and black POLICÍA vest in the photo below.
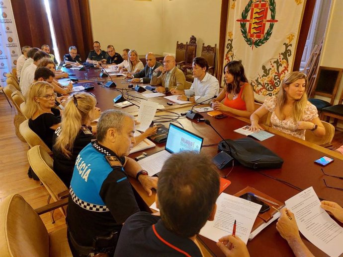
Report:
M 125 220 L 139 211 L 128 176 L 136 178 L 149 196 L 157 188 L 158 179 L 148 176 L 136 161 L 126 157 L 135 143 L 131 115 L 107 110 L 96 130 L 96 140 L 86 145 L 76 159 L 70 185 L 67 224 L 73 256 L 99 252 L 93 248 L 95 238 L 119 233 Z M 90 132 L 87 127 L 83 131 Z M 102 240 L 101 244 L 113 253 L 116 240 Z

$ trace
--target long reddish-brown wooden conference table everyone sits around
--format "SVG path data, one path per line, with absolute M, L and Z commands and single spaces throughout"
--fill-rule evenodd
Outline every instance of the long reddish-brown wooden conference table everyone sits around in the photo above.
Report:
M 74 72 L 74 70 L 68 70 L 68 72 L 77 73 Z M 89 74 L 91 74 L 91 76 L 89 76 Z M 99 70 L 96 69 L 88 71 L 88 80 L 80 80 L 80 82 L 75 86 L 82 85 L 83 83 L 94 84 L 95 88 L 90 92 L 96 96 L 98 101 L 97 106 L 100 107 L 101 110 L 114 108 L 112 99 L 122 91 L 112 90 L 98 85 L 97 81 L 101 80 L 98 74 Z M 79 75 L 79 78 L 83 77 L 82 74 Z M 76 76 L 78 76 L 78 74 L 76 74 Z M 91 78 L 90 80 L 89 77 Z M 121 77 L 115 77 L 113 78 L 113 81 L 116 82 L 116 88 L 118 89 L 127 88 L 129 84 L 126 82 L 122 83 L 122 81 L 125 80 L 123 80 Z M 130 91 L 130 95 L 132 95 L 131 97 L 140 97 L 144 99 L 142 94 L 136 91 Z M 143 101 L 143 99 L 139 100 Z M 136 100 L 137 104 L 139 105 L 138 99 Z M 170 115 L 170 112 L 180 114 L 181 112 L 190 109 L 190 106 L 185 105 L 168 106 L 166 104 L 167 99 L 163 97 L 148 98 L 147 100 L 159 102 L 165 106 L 166 109 L 157 112 L 156 115 Z M 137 115 L 138 107 L 131 106 L 123 108 L 122 110 L 131 113 L 132 115 Z M 202 113 L 202 115 L 205 119 L 208 119 L 211 122 L 211 125 L 216 128 L 224 138 L 238 139 L 245 137 L 244 135 L 234 132 L 233 130 L 248 125 L 249 121 L 247 119 L 229 116 L 225 119 L 218 120 L 208 116 L 206 113 Z M 216 144 L 221 141 L 221 138 L 212 128 L 210 128 L 204 122 L 189 120 L 181 116 L 177 119 L 177 121 L 185 129 L 204 138 L 203 148 L 201 150 L 202 153 L 211 158 L 218 153 L 218 147 Z M 164 125 L 168 127 L 168 124 Z M 178 124 L 175 125 L 180 126 Z M 325 173 L 343 176 L 343 155 L 315 145 L 311 142 L 284 134 L 273 128 L 266 126 L 264 126 L 264 128 L 273 133 L 274 136 L 261 141 L 260 143 L 284 160 L 282 167 L 279 169 L 253 170 L 245 168 L 235 161 L 232 172 L 226 178 L 230 180 L 232 184 L 224 191 L 224 193 L 235 194 L 247 186 L 250 186 L 262 193 L 284 202 L 288 198 L 299 193 L 299 189 L 305 190 L 312 186 L 320 199 L 335 201 L 343 206 L 343 191 L 328 188 L 323 182 L 323 179 L 325 179 L 329 186 L 343 188 L 342 180 L 324 175 L 321 171 L 322 167 L 314 163 L 315 160 L 323 157 L 324 155 L 332 157 L 335 159 L 335 161 L 323 168 Z M 156 147 L 146 149 L 144 151 L 148 153 L 149 156 L 157 151 L 163 150 L 164 146 L 165 144 L 163 143 L 156 144 Z M 141 152 L 137 152 L 131 154 L 130 157 L 135 157 L 140 154 Z M 226 175 L 230 169 L 231 167 L 218 170 L 218 172 L 223 176 Z M 149 206 L 151 206 L 151 204 L 155 201 L 155 193 L 153 196 L 148 197 L 147 193 L 143 190 L 137 180 L 130 178 L 130 182 L 135 191 L 138 193 L 141 203 L 146 209 L 149 209 Z M 194 210 L 193 215 L 196 215 L 196 210 Z M 287 242 L 282 239 L 282 237 L 276 231 L 275 226 L 276 221 L 263 229 L 253 240 L 248 242 L 247 247 L 251 257 L 293 256 L 293 253 Z M 215 242 L 202 236 L 198 236 L 198 239 L 202 243 L 203 247 L 205 247 L 205 249 L 208 251 L 207 255 L 218 257 L 224 256 L 217 248 Z M 307 241 L 306 238 L 302 237 L 302 239 L 314 256 L 327 256 L 316 246 Z

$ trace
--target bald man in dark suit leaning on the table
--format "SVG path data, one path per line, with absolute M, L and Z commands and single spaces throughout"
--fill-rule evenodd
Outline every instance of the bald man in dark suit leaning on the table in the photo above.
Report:
M 147 61 L 147 64 L 145 65 L 144 69 L 142 69 L 141 71 L 133 74 L 133 75 L 128 75 L 128 78 L 132 78 L 132 82 L 133 83 L 138 83 L 143 81 L 143 83 L 149 83 L 154 70 L 156 70 L 156 68 L 158 67 L 162 67 L 163 69 L 163 65 L 160 62 L 156 62 L 156 57 L 153 53 L 148 53 L 145 57 L 145 60 Z M 158 75 L 160 75 L 162 73 L 162 71 L 158 71 Z

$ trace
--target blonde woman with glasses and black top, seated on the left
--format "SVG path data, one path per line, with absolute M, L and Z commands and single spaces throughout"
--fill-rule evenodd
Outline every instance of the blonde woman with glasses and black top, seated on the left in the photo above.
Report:
M 54 87 L 45 81 L 33 83 L 26 94 L 25 115 L 29 127 L 52 149 L 52 136 L 60 126 L 62 111 L 55 109 Z

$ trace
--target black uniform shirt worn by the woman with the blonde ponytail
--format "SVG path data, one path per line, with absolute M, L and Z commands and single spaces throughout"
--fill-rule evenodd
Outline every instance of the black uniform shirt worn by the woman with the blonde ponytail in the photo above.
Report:
M 85 125 L 83 125 L 82 127 L 84 129 L 80 129 L 78 135 L 76 136 L 70 157 L 67 157 L 60 150 L 55 149 L 55 147 L 53 147 L 52 149 L 54 153 L 54 172 L 63 181 L 67 188 L 70 187 L 76 158 L 78 157 L 81 150 L 84 149 L 85 146 L 89 144 L 92 139 L 95 139 L 95 136 L 91 132 L 90 126 L 86 127 Z M 53 145 L 55 145 L 57 138 L 60 136 L 61 130 L 61 127 L 55 130 L 53 136 Z

